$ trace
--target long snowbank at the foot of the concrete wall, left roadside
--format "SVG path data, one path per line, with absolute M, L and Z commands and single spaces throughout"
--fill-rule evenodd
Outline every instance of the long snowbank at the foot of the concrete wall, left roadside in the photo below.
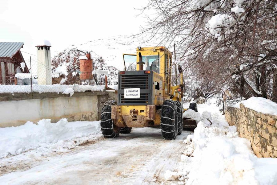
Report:
M 66 140 L 99 133 L 100 121 L 67 122 L 67 119 L 57 123 L 43 119 L 37 125 L 28 121 L 25 125 L 0 128 L 0 158 L 37 148 L 39 151 L 62 151 L 74 147 L 72 141 Z

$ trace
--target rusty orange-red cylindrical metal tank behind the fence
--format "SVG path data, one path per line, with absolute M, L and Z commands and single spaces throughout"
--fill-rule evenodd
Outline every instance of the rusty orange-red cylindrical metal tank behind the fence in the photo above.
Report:
M 90 54 L 86 54 L 87 59 L 80 59 L 80 80 L 92 79 L 92 59 Z

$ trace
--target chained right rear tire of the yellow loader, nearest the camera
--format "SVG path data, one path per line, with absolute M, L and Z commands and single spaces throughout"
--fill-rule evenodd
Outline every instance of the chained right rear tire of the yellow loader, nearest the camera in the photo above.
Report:
M 164 139 L 175 139 L 177 136 L 177 106 L 174 101 L 163 102 L 161 113 L 161 131 Z

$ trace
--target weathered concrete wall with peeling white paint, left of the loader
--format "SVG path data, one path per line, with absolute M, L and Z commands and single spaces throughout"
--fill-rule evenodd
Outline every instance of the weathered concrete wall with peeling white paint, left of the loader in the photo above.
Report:
M 110 92 L 74 92 L 72 97 L 61 93 L 1 94 L 0 127 L 19 126 L 43 118 L 49 118 L 51 122 L 61 118 L 99 120 L 102 105 L 115 97 L 116 94 Z

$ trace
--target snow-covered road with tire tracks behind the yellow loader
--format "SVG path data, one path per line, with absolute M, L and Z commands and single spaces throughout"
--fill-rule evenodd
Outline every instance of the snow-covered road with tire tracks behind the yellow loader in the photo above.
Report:
M 160 129 L 136 128 L 115 139 L 101 136 L 87 145 L 30 161 L 31 165 L 0 176 L 0 184 L 160 184 L 167 170 L 177 168 L 186 146 L 183 140 L 190 133 L 164 140 Z

